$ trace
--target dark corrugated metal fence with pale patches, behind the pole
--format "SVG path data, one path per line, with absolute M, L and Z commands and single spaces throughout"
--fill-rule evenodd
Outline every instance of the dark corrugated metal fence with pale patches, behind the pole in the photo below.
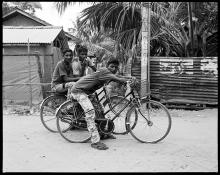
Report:
M 132 75 L 140 79 L 141 62 L 132 65 Z M 151 57 L 152 97 L 163 103 L 218 104 L 217 57 Z

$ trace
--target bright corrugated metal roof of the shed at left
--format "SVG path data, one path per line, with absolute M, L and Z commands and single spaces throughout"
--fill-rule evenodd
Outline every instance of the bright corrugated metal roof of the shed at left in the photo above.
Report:
M 63 28 L 58 26 L 3 26 L 3 43 L 51 43 Z

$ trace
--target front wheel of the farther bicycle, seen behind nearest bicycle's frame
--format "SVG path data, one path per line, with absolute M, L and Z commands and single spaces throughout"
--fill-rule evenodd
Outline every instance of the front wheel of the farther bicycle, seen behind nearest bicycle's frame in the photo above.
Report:
M 104 106 L 104 110 L 107 111 L 109 108 L 111 109 L 111 107 L 109 105 L 114 106 L 115 104 L 117 104 L 120 100 L 124 99 L 123 96 L 112 96 L 109 98 L 109 100 L 107 99 L 106 101 L 104 101 L 103 106 Z M 122 103 L 120 103 L 121 105 L 116 106 L 114 109 L 111 109 L 110 112 L 107 113 L 108 117 L 110 119 L 113 119 L 115 114 L 120 111 L 123 106 L 128 103 L 129 100 L 128 99 L 124 99 L 122 101 Z M 113 134 L 115 135 L 124 135 L 126 133 L 128 133 L 127 131 L 127 127 L 126 127 L 126 123 L 125 123 L 125 119 L 126 119 L 126 113 L 129 110 L 129 106 L 126 107 L 118 117 L 116 117 L 115 119 L 113 119 L 115 128 L 113 131 Z

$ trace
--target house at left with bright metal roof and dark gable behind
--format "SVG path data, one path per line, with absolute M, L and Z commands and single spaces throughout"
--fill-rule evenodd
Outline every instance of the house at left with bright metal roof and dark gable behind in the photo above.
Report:
M 18 8 L 3 16 L 4 100 L 40 103 L 48 95 L 51 75 L 62 59 L 62 50 L 69 48 L 68 41 L 72 39 L 62 27 Z

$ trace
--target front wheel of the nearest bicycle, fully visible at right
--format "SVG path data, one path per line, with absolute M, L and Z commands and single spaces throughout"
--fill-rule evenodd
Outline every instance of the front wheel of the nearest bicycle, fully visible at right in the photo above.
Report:
M 171 121 L 169 111 L 163 104 L 147 99 L 142 100 L 141 107 L 133 106 L 126 117 L 129 132 L 142 143 L 163 140 L 170 132 Z

